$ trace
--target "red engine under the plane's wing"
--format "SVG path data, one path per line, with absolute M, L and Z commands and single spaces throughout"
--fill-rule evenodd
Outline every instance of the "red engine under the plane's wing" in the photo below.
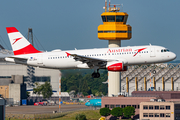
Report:
M 127 71 L 127 66 L 123 66 L 123 63 L 114 63 L 107 67 L 108 71 Z

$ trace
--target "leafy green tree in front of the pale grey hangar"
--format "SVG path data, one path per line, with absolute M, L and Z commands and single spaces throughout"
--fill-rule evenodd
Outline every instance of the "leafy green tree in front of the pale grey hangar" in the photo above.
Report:
M 33 92 L 35 94 L 42 94 L 43 98 L 50 98 L 53 94 L 52 92 L 52 86 L 49 82 L 45 82 L 45 84 L 39 85 L 38 83 L 35 83 L 36 88 L 33 89 Z

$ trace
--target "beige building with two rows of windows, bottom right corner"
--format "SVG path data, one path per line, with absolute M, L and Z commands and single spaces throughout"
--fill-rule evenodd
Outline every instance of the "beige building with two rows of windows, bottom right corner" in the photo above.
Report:
M 179 120 L 180 102 L 149 101 L 140 103 L 140 120 Z

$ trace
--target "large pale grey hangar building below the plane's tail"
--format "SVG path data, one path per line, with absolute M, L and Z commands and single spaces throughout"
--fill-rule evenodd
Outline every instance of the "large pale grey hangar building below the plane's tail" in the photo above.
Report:
M 4 85 L 4 87 L 2 88 L 5 89 L 6 85 L 8 86 L 8 83 L 12 82 L 10 81 L 12 75 L 21 75 L 23 76 L 22 79 L 24 80 L 24 83 L 27 84 L 27 90 L 33 88 L 32 86 L 29 86 L 29 84 L 35 82 L 39 82 L 40 84 L 42 84 L 46 81 L 49 81 L 52 85 L 53 91 L 59 91 L 59 70 L 44 69 L 38 67 L 33 68 L 33 71 L 29 72 L 29 68 L 26 65 L 0 62 L 0 85 Z M 29 80 L 29 74 L 33 76 L 31 81 Z M 5 83 L 7 84 L 5 85 Z

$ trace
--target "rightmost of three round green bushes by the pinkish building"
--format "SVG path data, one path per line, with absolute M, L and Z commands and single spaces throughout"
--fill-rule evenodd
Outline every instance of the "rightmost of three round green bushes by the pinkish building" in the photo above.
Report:
M 135 108 L 127 106 L 123 109 L 124 117 L 130 118 L 132 115 L 135 115 Z

